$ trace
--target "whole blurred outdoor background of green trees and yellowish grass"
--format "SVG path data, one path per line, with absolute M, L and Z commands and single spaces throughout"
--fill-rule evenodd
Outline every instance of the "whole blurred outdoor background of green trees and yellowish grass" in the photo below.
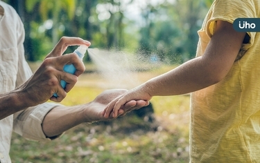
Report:
M 144 61 L 130 64 L 135 84 L 112 86 L 86 55 L 86 72 L 65 105 L 85 104 L 108 88 L 132 88 L 195 57 L 197 31 L 212 2 L 6 0 L 24 22 L 25 55 L 33 71 L 62 36 L 91 41 L 90 48 L 103 50 L 99 55 L 130 54 L 131 60 Z M 31 142 L 14 133 L 12 162 L 189 162 L 189 95 L 154 97 L 151 103 L 144 116 L 81 124 L 52 142 Z

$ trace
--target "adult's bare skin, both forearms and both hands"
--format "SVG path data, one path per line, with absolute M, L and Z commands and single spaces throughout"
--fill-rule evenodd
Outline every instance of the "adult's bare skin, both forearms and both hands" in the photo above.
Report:
M 83 61 L 78 55 L 71 53 L 62 55 L 68 46 L 90 46 L 89 41 L 78 37 L 62 37 L 53 50 L 46 56 L 40 68 L 32 75 L 28 81 L 10 91 L 0 94 L 0 119 L 22 111 L 30 106 L 37 106 L 47 102 L 61 102 L 67 93 L 76 84 L 78 76 L 85 70 Z M 71 75 L 63 71 L 65 64 L 73 64 L 76 73 Z M 67 81 L 65 89 L 60 86 L 60 80 Z M 106 90 L 98 95 L 93 102 L 80 106 L 56 106 L 47 113 L 42 122 L 42 129 L 46 137 L 54 137 L 67 131 L 69 128 L 83 122 L 96 122 L 112 119 L 112 115 L 103 117 L 102 112 L 105 106 L 127 90 Z M 57 93 L 58 97 L 53 97 Z M 148 101 L 130 100 L 119 110 L 119 115 L 123 116 L 129 111 L 147 106 Z

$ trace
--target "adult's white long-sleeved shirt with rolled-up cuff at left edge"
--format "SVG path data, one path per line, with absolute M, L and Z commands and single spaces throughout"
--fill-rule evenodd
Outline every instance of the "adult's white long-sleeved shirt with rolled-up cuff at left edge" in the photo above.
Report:
M 33 75 L 24 57 L 24 24 L 17 12 L 0 1 L 4 9 L 0 17 L 0 93 L 7 93 Z M 0 120 L 0 162 L 11 162 L 12 131 L 30 140 L 50 140 L 42 131 L 42 120 L 54 103 L 40 104 Z

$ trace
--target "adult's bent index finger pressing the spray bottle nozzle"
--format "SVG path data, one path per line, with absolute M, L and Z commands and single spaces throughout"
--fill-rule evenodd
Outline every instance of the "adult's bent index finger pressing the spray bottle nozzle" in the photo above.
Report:
M 57 57 L 63 54 L 65 50 L 67 50 L 68 46 L 90 46 L 90 42 L 80 37 L 62 37 L 58 44 L 56 44 L 55 48 L 50 53 L 49 57 Z

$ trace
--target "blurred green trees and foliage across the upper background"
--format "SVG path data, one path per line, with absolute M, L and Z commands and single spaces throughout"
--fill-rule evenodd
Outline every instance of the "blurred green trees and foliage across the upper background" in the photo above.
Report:
M 197 31 L 212 1 L 6 0 L 24 21 L 28 61 L 41 61 L 60 37 L 73 36 L 91 41 L 92 48 L 128 50 L 171 64 L 195 56 Z

